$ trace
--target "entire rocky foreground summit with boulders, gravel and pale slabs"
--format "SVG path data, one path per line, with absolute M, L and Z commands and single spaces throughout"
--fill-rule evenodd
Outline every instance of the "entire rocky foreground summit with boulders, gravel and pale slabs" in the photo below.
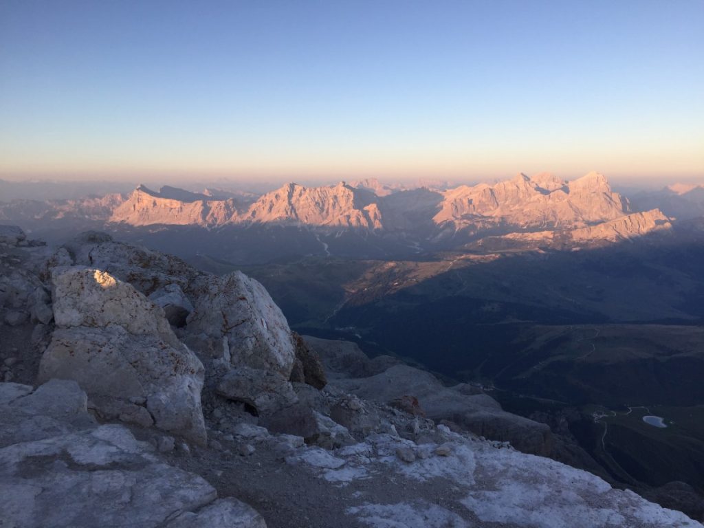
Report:
M 239 272 L 9 227 L 0 266 L 2 528 L 701 526 L 475 389 L 292 334 Z

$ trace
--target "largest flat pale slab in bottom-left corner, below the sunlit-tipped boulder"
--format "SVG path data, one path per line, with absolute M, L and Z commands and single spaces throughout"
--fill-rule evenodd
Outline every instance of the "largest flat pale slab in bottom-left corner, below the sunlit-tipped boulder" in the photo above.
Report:
M 156 528 L 217 496 L 201 477 L 161 462 L 120 425 L 1 448 L 0 489 L 0 519 L 23 528 Z

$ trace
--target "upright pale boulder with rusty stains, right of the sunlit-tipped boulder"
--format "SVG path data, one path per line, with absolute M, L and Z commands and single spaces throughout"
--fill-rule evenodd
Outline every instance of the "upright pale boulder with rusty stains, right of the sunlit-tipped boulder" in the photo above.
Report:
M 291 329 L 259 282 L 239 271 L 223 277 L 203 275 L 187 293 L 194 301 L 187 332 L 227 338 L 225 360 L 234 367 L 267 370 L 289 379 L 296 358 Z

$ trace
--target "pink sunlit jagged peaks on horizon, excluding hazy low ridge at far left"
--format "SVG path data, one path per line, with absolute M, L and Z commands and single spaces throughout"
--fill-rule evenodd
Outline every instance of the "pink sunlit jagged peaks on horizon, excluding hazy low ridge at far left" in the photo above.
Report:
M 534 178 L 520 174 L 493 185 L 462 185 L 446 191 L 380 187 L 375 180 L 355 187 L 346 182 L 323 187 L 290 183 L 249 203 L 174 187 L 156 192 L 139 186 L 113 210 L 109 222 L 202 227 L 275 224 L 382 232 L 434 227 L 441 236 L 580 230 L 575 235 L 581 240 L 589 234 L 629 238 L 669 224 L 659 210 L 633 215 L 628 200 L 612 191 L 603 175 L 590 172 L 571 182 L 548 173 Z M 612 227 L 612 222 L 620 227 Z M 596 229 L 603 224 L 611 227 Z

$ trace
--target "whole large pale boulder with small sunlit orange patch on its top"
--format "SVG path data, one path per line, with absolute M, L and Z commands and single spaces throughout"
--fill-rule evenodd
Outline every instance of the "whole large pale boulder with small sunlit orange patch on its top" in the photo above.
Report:
M 103 418 L 206 441 L 203 365 L 178 341 L 163 310 L 106 272 L 54 271 L 57 329 L 39 382 L 75 379 Z

